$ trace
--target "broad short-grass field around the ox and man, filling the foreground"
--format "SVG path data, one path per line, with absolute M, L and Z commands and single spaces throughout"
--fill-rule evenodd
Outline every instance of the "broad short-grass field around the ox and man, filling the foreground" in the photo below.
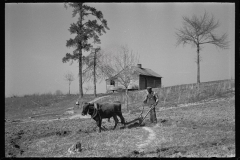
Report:
M 208 87 L 208 89 L 211 88 Z M 174 97 L 169 95 L 169 99 Z M 173 95 L 179 95 L 179 93 Z M 117 128 L 112 130 L 114 121 L 111 119 L 111 122 L 103 120 L 103 126 L 108 130 L 97 133 L 95 121 L 92 119 L 59 119 L 21 123 L 21 120 L 29 119 L 29 117 L 41 119 L 41 116 L 37 115 L 42 115 L 42 119 L 53 119 L 56 115 L 67 117 L 68 115 L 64 113 L 69 108 L 74 108 L 77 98 L 74 95 L 7 98 L 5 100 L 5 116 L 8 119 L 5 122 L 5 156 L 235 156 L 234 90 L 221 89 L 221 92 L 215 92 L 213 96 L 199 99 L 195 101 L 198 103 L 185 106 L 179 103 L 179 105 L 170 107 L 166 105 L 166 101 L 164 104 L 164 99 L 162 99 L 157 106 L 158 124 L 156 126 L 150 125 L 147 118 L 144 126 L 138 127 L 133 123 L 121 129 L 121 124 L 118 124 Z M 88 96 L 82 100 L 92 99 L 94 99 L 93 96 Z M 138 117 L 141 111 L 140 104 L 141 102 L 131 105 L 132 112 L 130 113 L 123 108 L 127 121 Z M 147 108 L 144 114 L 146 111 Z M 153 134 L 152 137 L 151 134 Z M 68 149 L 77 142 L 81 143 L 82 151 L 70 154 Z

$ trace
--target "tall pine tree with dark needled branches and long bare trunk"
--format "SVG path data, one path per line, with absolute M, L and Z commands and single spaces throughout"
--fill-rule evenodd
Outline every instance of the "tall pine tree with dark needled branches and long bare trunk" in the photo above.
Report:
M 79 62 L 79 98 L 83 97 L 82 87 L 82 51 L 89 51 L 93 46 L 89 40 L 93 40 L 93 43 L 100 44 L 101 40 L 99 36 L 102 33 L 106 33 L 105 29 L 108 29 L 107 21 L 103 18 L 101 11 L 96 10 L 94 7 L 87 6 L 83 3 L 68 3 L 68 6 L 73 8 L 72 17 L 79 14 L 78 21 L 72 23 L 69 31 L 71 34 L 76 34 L 74 39 L 67 40 L 67 47 L 76 48 L 72 54 L 66 53 L 66 56 L 62 58 L 62 62 L 78 60 Z M 95 20 L 86 20 L 91 15 Z M 100 24 L 99 24 L 100 23 Z

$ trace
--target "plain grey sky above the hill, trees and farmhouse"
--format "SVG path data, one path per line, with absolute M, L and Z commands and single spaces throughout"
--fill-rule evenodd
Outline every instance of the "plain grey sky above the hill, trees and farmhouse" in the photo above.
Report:
M 160 74 L 163 86 L 196 83 L 196 48 L 176 47 L 177 29 L 183 16 L 203 16 L 206 11 L 219 21 L 217 34 L 228 34 L 229 49 L 205 45 L 200 51 L 200 80 L 235 78 L 235 4 L 234 3 L 87 3 L 102 11 L 107 33 L 100 37 L 101 48 L 116 50 L 128 45 L 140 55 L 140 63 Z M 78 93 L 78 64 L 62 63 L 73 48 L 66 40 L 72 8 L 63 3 L 5 4 L 5 95 L 68 92 L 64 74 L 72 72 L 75 80 L 71 93 Z M 87 55 L 88 53 L 84 53 Z M 84 84 L 84 87 L 92 84 Z M 105 81 L 97 92 L 105 93 Z M 93 90 L 88 93 L 93 93 Z

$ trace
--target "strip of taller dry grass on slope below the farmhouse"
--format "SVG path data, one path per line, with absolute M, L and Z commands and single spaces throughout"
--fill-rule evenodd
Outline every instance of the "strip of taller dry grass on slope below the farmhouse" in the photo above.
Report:
M 228 87 L 226 87 L 228 86 Z M 169 86 L 163 88 L 153 88 L 159 95 L 159 104 L 166 105 L 177 105 L 192 103 L 206 99 L 210 96 L 216 96 L 223 94 L 222 92 L 228 92 L 229 89 L 235 88 L 234 80 L 220 80 L 220 81 L 210 81 L 202 82 L 199 85 L 193 84 L 183 84 L 176 86 Z M 146 90 L 132 91 L 128 95 L 128 105 L 139 104 L 143 101 L 146 95 Z M 125 104 L 125 93 L 110 95 L 97 100 L 96 102 L 113 102 L 120 101 Z M 163 104 L 162 104 L 163 103 Z

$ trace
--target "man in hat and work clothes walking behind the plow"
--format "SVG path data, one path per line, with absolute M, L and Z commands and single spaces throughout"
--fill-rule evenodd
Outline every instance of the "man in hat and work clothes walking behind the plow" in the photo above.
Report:
M 152 110 L 150 111 L 150 122 L 151 123 L 157 123 L 157 117 L 156 117 L 156 111 L 155 106 L 158 104 L 158 95 L 152 91 L 152 87 L 147 87 L 148 94 L 146 95 L 146 98 L 144 99 L 143 103 L 147 104 Z

